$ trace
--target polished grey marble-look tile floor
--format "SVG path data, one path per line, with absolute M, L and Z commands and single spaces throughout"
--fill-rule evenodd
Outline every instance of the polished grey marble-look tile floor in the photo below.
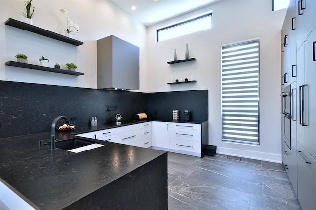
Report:
M 301 210 L 282 164 L 168 152 L 169 210 Z

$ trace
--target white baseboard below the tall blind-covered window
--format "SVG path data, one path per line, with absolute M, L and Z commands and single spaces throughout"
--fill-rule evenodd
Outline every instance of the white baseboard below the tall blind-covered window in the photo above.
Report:
M 251 150 L 238 150 L 238 149 L 223 148 L 223 147 L 217 147 L 216 153 L 237 156 L 237 157 L 244 157 L 244 158 L 255 159 L 255 160 L 263 160 L 263 161 L 274 162 L 274 163 L 282 163 L 281 154 L 271 154 L 271 153 L 257 152 L 257 151 L 251 151 Z

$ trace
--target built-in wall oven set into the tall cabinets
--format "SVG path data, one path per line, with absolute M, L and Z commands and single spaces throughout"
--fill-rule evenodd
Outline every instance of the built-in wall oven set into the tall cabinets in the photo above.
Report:
M 291 85 L 282 89 L 282 139 L 291 150 L 291 108 L 292 108 L 292 93 Z

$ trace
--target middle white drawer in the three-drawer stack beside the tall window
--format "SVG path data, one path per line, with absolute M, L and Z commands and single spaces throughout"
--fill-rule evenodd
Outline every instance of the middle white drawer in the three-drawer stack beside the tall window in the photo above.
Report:
M 184 140 L 201 142 L 201 131 L 200 130 L 171 128 L 169 135 L 170 135 L 171 139 L 184 139 Z

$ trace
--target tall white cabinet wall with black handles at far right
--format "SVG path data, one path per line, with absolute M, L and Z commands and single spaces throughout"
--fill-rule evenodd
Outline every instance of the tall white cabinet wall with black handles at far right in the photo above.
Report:
M 292 11 L 295 11 L 294 16 Z M 293 68 L 296 70 L 296 82 L 290 83 L 291 88 L 295 88 L 292 92 L 292 119 L 296 120 L 291 127 L 292 149 L 289 150 L 283 143 L 282 161 L 303 210 L 316 207 L 315 14 L 315 0 L 291 0 L 282 28 L 282 87 L 287 85 L 287 79 L 293 82 L 291 78 L 286 78 L 285 69 L 289 69 L 288 66 L 292 65 L 290 62 L 296 58 L 296 66 Z M 294 30 L 289 30 L 289 24 L 293 22 Z M 292 34 L 291 42 L 286 42 L 290 37 L 288 34 Z M 294 48 L 294 43 L 296 51 L 289 50 Z M 288 46 L 290 48 L 286 49 Z

